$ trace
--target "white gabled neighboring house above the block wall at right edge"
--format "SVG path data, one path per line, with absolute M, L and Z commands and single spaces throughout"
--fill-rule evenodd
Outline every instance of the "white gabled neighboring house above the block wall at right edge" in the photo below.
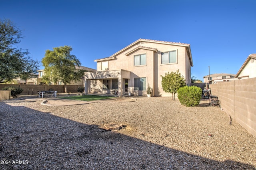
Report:
M 240 70 L 238 70 L 235 78 L 254 78 L 256 77 L 256 54 L 250 54 Z

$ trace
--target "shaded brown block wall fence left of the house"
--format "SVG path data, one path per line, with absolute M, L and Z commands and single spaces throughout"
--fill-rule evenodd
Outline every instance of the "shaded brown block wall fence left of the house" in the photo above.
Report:
M 47 91 L 50 88 L 58 93 L 65 93 L 65 86 L 67 88 L 67 93 L 77 93 L 78 87 L 84 87 L 83 85 L 46 85 L 46 84 L 0 84 L 0 90 L 4 87 L 20 87 L 23 92 L 19 95 L 34 95 L 37 91 Z M 18 95 L 18 96 L 19 96 Z

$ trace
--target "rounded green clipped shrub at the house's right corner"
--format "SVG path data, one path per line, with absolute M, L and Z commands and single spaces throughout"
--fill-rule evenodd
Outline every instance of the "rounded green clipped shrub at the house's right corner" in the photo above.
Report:
M 178 99 L 185 106 L 198 106 L 202 89 L 196 86 L 184 86 L 178 89 Z

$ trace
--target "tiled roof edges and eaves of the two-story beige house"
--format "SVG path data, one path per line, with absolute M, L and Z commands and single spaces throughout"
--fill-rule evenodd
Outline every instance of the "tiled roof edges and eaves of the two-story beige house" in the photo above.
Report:
M 171 44 L 171 45 L 176 45 L 176 46 L 184 46 L 186 47 L 186 51 L 188 53 L 188 57 L 189 57 L 189 61 L 190 61 L 190 65 L 193 66 L 193 60 L 192 60 L 192 54 L 191 54 L 191 50 L 190 50 L 190 44 L 185 44 L 185 43 L 180 43 L 180 42 L 168 42 L 168 41 L 158 41 L 158 40 L 148 40 L 148 39 L 138 39 L 137 41 L 133 42 L 132 44 L 124 47 L 122 50 L 116 52 L 115 54 L 113 54 L 112 56 L 110 57 L 106 57 L 106 58 L 101 58 L 101 59 L 96 59 L 94 60 L 95 62 L 97 61 L 102 61 L 102 60 L 112 60 L 112 59 L 115 59 L 116 58 L 116 55 L 120 54 L 121 52 L 123 52 L 124 50 L 126 50 L 127 48 L 130 48 L 131 46 L 137 44 L 137 43 L 142 43 L 142 42 L 154 42 L 154 43 L 159 43 L 159 44 Z M 146 49 L 151 49 L 151 50 L 156 50 L 156 48 L 148 48 L 148 47 L 143 47 L 143 46 L 138 46 L 136 49 L 138 48 L 146 48 Z M 136 50 L 136 49 L 133 49 L 131 51 L 129 51 L 127 54 L 129 54 L 130 52 Z

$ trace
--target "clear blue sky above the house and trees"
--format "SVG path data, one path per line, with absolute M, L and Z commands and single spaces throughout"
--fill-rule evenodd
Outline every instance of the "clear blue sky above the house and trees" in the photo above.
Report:
M 1 19 L 22 30 L 18 48 L 41 63 L 71 46 L 82 66 L 139 38 L 190 44 L 192 76 L 236 74 L 256 53 L 256 0 L 0 0 Z M 42 69 L 43 67 L 41 67 Z

